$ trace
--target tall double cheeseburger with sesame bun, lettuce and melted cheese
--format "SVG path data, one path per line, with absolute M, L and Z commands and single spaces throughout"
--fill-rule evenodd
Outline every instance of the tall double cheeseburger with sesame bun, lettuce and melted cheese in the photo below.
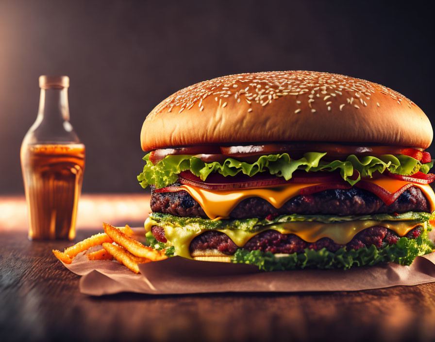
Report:
M 167 255 L 265 271 L 409 265 L 434 248 L 432 137 L 415 103 L 347 76 L 191 85 L 142 126 L 147 239 Z

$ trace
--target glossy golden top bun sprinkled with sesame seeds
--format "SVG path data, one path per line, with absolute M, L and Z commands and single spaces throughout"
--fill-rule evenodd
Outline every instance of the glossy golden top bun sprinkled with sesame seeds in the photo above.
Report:
M 383 85 L 316 71 L 218 77 L 157 105 L 140 135 L 144 151 L 267 141 L 379 143 L 427 148 L 433 131 L 412 101 Z

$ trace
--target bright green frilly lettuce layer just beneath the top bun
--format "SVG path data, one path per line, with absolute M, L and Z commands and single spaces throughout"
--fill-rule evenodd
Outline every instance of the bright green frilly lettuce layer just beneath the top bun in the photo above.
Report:
M 234 158 L 227 158 L 223 163 L 205 163 L 193 155 L 168 155 L 154 165 L 147 154 L 143 159 L 146 161 L 143 171 L 137 176 L 137 180 L 143 188 L 153 184 L 156 188 L 164 188 L 175 183 L 178 174 L 190 170 L 193 174 L 206 180 L 212 172 L 218 172 L 224 176 L 235 176 L 242 172 L 253 176 L 259 172 L 269 172 L 285 180 L 289 180 L 296 170 L 304 171 L 339 171 L 341 177 L 352 186 L 361 177 L 371 177 L 373 172 L 384 172 L 409 175 L 417 171 L 428 172 L 433 163 L 421 164 L 417 159 L 407 155 L 384 154 L 378 157 L 365 156 L 358 158 L 351 154 L 345 161 L 323 161 L 326 153 L 308 152 L 300 159 L 291 159 L 286 153 L 262 155 L 254 163 L 241 162 Z M 360 176 L 350 179 L 353 171 L 357 170 Z

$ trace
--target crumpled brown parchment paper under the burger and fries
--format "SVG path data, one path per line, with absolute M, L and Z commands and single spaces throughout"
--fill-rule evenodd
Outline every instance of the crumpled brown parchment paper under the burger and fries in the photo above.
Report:
M 115 261 L 90 261 L 83 254 L 64 265 L 71 272 L 82 275 L 80 291 L 94 296 L 119 292 L 358 291 L 435 282 L 435 253 L 418 256 L 411 266 L 390 263 L 347 271 L 259 272 L 252 265 L 197 261 L 180 256 L 141 264 L 140 274 L 134 274 Z

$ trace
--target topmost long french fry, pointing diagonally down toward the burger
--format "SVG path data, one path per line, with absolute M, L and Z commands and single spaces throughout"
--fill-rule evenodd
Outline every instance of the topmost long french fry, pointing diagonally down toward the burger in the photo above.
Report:
M 134 256 L 145 257 L 151 261 L 166 259 L 164 252 L 157 251 L 151 247 L 144 246 L 139 241 L 132 239 L 131 237 L 124 234 L 122 231 L 110 225 L 108 223 L 103 223 L 104 232 L 118 245 L 124 247 Z

